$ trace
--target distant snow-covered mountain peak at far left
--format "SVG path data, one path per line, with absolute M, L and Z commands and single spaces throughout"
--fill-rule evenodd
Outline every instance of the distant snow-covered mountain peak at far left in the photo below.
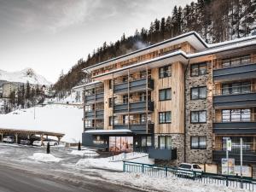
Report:
M 32 68 L 25 68 L 18 72 L 6 72 L 0 69 L 0 81 L 20 82 L 30 84 L 50 85 L 51 83 L 42 75 L 36 73 Z

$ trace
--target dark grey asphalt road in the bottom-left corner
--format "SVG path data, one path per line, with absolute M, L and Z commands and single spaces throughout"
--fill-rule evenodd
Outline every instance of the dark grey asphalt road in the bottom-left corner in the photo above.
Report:
M 68 177 L 71 177 L 70 175 Z M 130 187 L 86 179 L 83 182 L 69 183 L 46 178 L 30 172 L 23 172 L 9 166 L 0 165 L 0 192 L 137 192 Z

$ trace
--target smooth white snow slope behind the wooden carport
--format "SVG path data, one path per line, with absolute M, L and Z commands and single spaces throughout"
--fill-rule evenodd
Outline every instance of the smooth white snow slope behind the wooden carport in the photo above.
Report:
M 83 132 L 83 109 L 74 106 L 46 105 L 34 108 L 15 110 L 12 113 L 0 114 L 0 129 L 52 131 L 64 133 L 62 142 L 79 143 Z

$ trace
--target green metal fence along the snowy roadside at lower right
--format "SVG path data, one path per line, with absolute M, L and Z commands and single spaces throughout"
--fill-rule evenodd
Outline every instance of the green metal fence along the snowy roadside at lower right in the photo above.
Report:
M 155 166 L 130 161 L 124 161 L 124 172 L 140 172 L 152 177 L 182 177 L 197 183 L 209 183 L 233 188 L 256 191 L 256 179 L 251 177 L 227 176 L 208 172 L 193 172 L 177 167 Z

